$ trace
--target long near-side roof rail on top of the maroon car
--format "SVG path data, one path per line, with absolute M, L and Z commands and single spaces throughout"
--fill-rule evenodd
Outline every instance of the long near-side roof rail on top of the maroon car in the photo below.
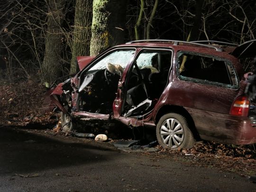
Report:
M 223 51 L 219 47 L 215 47 L 215 46 L 212 46 L 212 45 L 205 45 L 205 44 L 198 43 L 198 42 L 185 42 L 185 41 L 165 40 L 165 39 L 137 40 L 137 41 L 127 42 L 126 44 L 131 44 L 131 43 L 136 43 L 136 42 L 173 42 L 174 45 L 179 45 L 179 43 L 186 43 L 186 44 L 197 45 L 197 46 L 201 46 L 201 47 L 207 47 L 207 48 L 215 49 L 216 51 Z

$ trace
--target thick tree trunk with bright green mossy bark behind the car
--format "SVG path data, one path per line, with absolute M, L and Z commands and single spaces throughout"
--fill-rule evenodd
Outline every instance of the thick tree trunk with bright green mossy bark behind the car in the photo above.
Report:
M 93 0 L 90 55 L 124 41 L 127 0 Z

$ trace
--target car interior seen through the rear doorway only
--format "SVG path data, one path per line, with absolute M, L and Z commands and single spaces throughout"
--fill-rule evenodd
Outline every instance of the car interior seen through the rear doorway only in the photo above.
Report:
M 170 67 L 170 51 L 145 50 L 137 57 L 126 82 L 124 117 L 140 118 L 154 108 L 168 82 Z

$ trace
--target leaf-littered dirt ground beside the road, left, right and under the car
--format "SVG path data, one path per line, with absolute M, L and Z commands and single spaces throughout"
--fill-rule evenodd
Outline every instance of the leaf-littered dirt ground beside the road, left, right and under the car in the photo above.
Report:
M 43 106 L 46 92 L 46 88 L 37 81 L 0 82 L 0 124 L 18 129 L 31 129 L 35 132 L 40 132 L 42 129 L 44 133 L 62 135 L 60 130 L 54 130 L 58 122 L 58 114 L 46 112 L 46 107 Z M 133 130 L 130 129 L 130 131 L 132 133 Z M 113 134 L 113 132 L 113 129 L 109 129 L 103 133 L 109 134 L 108 136 L 114 140 L 134 139 L 132 134 L 129 138 L 122 137 L 124 134 Z M 90 142 L 90 140 L 88 141 Z M 109 143 L 111 142 L 113 141 L 109 141 Z M 156 145 L 154 148 L 157 152 L 154 153 L 154 156 L 161 159 L 172 158 L 174 161 L 182 161 L 187 165 L 214 167 L 247 177 L 256 173 L 255 147 L 254 145 L 237 146 L 201 142 L 190 150 L 174 151 Z

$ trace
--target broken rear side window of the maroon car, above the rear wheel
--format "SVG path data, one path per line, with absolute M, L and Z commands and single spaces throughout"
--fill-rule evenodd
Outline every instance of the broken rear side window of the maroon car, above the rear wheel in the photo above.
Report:
M 177 75 L 181 80 L 238 88 L 238 77 L 229 60 L 180 52 L 177 61 Z

